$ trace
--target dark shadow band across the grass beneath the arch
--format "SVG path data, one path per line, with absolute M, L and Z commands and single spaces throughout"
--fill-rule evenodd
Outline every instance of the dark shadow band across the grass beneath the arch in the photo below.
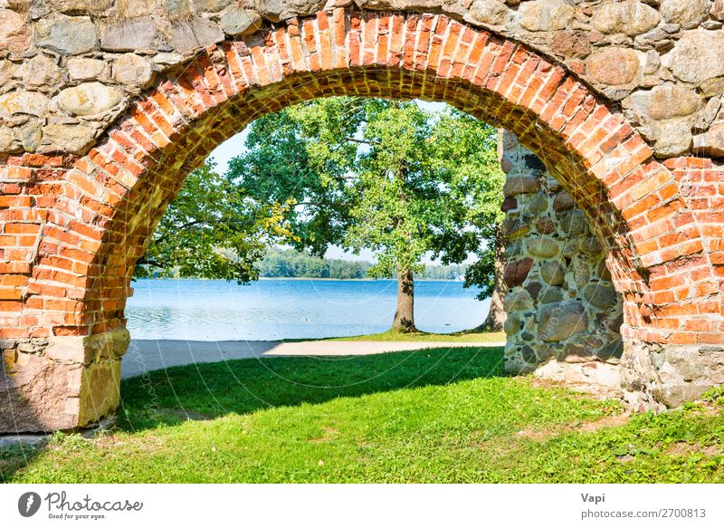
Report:
M 124 379 L 118 426 L 138 431 L 186 419 L 502 375 L 500 347 L 197 363 Z

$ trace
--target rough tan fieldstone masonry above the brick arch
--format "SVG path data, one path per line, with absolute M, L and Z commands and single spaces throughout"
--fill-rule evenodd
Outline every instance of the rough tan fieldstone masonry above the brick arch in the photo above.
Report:
M 724 156 L 724 0 L 0 0 L 0 152 L 84 154 L 202 48 L 355 5 L 526 43 L 620 104 L 657 156 Z

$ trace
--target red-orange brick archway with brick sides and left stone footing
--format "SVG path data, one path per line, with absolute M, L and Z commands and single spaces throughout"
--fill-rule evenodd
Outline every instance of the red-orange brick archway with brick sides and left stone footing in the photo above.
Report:
M 343 94 L 451 103 L 546 163 L 609 251 L 628 389 L 650 404 L 662 399 L 651 353 L 724 341 L 724 221 L 704 221 L 713 205 L 701 203 L 714 199 L 704 182 L 720 181 L 710 162 L 656 161 L 622 113 L 523 44 L 442 14 L 336 9 L 165 73 L 85 156 L 8 159 L 2 337 L 34 350 L 6 361 L 14 379 L 34 379 L 8 391 L 31 402 L 15 405 L 14 429 L 75 427 L 116 407 L 130 277 L 186 174 L 262 114 Z

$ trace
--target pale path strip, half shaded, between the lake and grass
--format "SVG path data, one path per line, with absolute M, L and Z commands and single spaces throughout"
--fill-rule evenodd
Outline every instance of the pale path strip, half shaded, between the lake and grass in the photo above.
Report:
M 433 341 L 179 341 L 132 340 L 121 364 L 121 377 L 176 365 L 283 356 L 363 356 L 401 350 L 500 347 L 504 342 Z

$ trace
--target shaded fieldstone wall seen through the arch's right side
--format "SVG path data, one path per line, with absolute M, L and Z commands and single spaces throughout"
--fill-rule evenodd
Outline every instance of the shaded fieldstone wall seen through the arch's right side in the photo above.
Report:
M 621 296 L 583 211 L 543 163 L 502 132 L 506 370 L 620 386 Z

